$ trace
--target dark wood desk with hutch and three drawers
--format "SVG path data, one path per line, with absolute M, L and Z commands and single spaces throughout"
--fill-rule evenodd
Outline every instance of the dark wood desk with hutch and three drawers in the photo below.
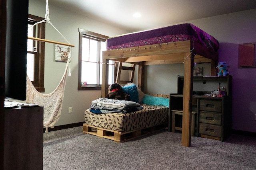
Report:
M 194 76 L 193 79 L 194 94 L 210 94 L 219 86 L 225 87 L 226 92 L 222 97 L 193 95 L 191 105 L 192 112 L 196 112 L 196 126 L 192 132 L 195 130 L 198 137 L 225 141 L 231 134 L 232 76 Z M 170 94 L 169 131 L 172 132 L 182 130 L 175 128 L 179 120 L 172 110 L 183 108 L 183 81 L 184 77 L 178 76 L 178 93 Z

